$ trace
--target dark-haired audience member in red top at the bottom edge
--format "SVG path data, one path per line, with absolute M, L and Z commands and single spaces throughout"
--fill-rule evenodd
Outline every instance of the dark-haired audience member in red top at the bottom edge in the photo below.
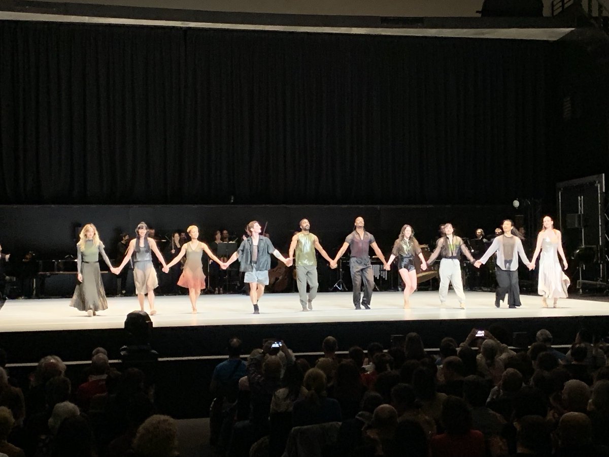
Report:
M 442 408 L 445 433 L 431 439 L 432 457 L 485 457 L 484 436 L 473 430 L 470 408 L 465 400 L 448 397 Z

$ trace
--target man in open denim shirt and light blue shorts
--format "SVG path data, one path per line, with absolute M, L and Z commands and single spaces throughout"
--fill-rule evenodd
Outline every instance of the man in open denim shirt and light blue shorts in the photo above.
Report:
M 260 236 L 261 230 L 262 227 L 258 224 L 258 221 L 247 224 L 245 231 L 250 236 L 242 241 L 237 252 L 231 255 L 231 258 L 223 266 L 224 269 L 227 269 L 231 263 L 239 258 L 239 269 L 245 272 L 244 282 L 250 285 L 250 299 L 254 306 L 254 314 L 260 314 L 258 300 L 264 294 L 264 286 L 269 283 L 270 255 L 273 254 L 286 266 L 292 264 L 292 259 L 283 257 L 275 249 L 269 238 Z

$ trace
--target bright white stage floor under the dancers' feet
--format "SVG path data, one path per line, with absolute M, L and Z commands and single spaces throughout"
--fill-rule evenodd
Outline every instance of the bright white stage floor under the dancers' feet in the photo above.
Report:
M 155 327 L 195 325 L 303 324 L 320 322 L 401 321 L 434 319 L 494 319 L 510 317 L 603 316 L 609 301 L 562 299 L 558 308 L 541 308 L 540 297 L 521 296 L 516 309 L 495 308 L 495 294 L 466 292 L 467 309 L 461 310 L 452 292 L 448 305 L 440 308 L 437 291 L 415 292 L 410 310 L 402 308 L 401 292 L 374 292 L 371 310 L 354 310 L 351 292 L 324 292 L 317 295 L 314 310 L 301 310 L 298 294 L 265 294 L 259 315 L 244 295 L 205 295 L 197 302 L 198 314 L 191 313 L 188 296 L 157 297 Z M 147 308 L 147 303 L 146 303 Z M 69 306 L 69 299 L 7 300 L 0 309 L 1 331 L 88 330 L 122 328 L 125 316 L 139 310 L 136 297 L 110 297 L 108 309 L 95 317 Z

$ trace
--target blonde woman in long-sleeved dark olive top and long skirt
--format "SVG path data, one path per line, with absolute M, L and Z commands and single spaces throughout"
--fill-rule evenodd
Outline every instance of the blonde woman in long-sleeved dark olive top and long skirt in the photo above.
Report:
M 108 309 L 104 283 L 99 270 L 99 255 L 102 255 L 111 272 L 115 273 L 116 269 L 104 251 L 104 243 L 100 241 L 95 225 L 86 224 L 80 230 L 80 239 L 76 247 L 79 284 L 74 290 L 70 306 L 86 311 L 87 316 L 91 317 L 95 316 L 97 311 Z

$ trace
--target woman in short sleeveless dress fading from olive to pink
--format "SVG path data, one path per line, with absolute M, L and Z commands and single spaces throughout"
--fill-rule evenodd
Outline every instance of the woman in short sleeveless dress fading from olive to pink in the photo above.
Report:
M 203 251 L 207 253 L 209 258 L 220 264 L 220 266 L 224 263 L 211 252 L 205 243 L 197 239 L 199 238 L 199 227 L 191 225 L 186 231 L 188 232 L 188 235 L 190 235 L 191 241 L 183 244 L 180 253 L 163 268 L 163 271 L 166 273 L 169 272 L 169 268 L 178 263 L 186 254 L 186 263 L 184 264 L 180 279 L 178 279 L 178 286 L 188 289 L 188 296 L 191 299 L 192 305 L 192 314 L 196 314 L 197 299 L 201 294 L 201 290 L 205 289 L 205 274 L 203 274 L 203 263 L 201 261 Z

